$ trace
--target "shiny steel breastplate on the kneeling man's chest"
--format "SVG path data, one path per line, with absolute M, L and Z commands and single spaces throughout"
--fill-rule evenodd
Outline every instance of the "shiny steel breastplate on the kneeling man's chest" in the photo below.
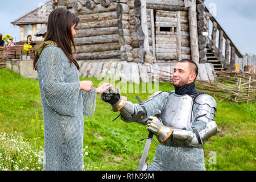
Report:
M 174 129 L 190 127 L 193 99 L 187 94 L 179 96 L 171 94 L 162 109 L 160 118 L 165 126 Z

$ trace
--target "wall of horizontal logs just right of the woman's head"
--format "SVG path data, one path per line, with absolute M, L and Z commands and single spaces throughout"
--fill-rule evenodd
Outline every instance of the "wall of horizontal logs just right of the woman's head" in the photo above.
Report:
M 125 22 L 126 17 L 119 17 L 117 14 L 120 8 L 119 3 L 113 0 L 68 0 L 66 2 L 67 9 L 80 18 L 74 39 L 76 59 L 121 59 L 121 43 L 126 44 L 129 39 L 119 38 L 118 27 L 120 21 L 122 27 L 129 25 Z M 126 10 L 126 12 L 129 11 Z

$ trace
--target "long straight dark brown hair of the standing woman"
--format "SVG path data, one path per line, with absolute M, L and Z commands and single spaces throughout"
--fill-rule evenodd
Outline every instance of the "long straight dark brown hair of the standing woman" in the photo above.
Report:
M 79 23 L 80 19 L 65 9 L 55 9 L 49 14 L 47 32 L 44 41 L 51 40 L 58 44 L 65 55 L 68 57 L 69 63 L 72 65 L 74 63 L 79 70 L 79 64 L 77 64 L 75 56 L 73 56 L 72 46 L 76 51 L 76 46 L 74 38 L 72 35 L 72 26 Z M 38 53 L 36 53 L 34 59 L 34 69 L 36 68 L 36 63 L 39 59 Z

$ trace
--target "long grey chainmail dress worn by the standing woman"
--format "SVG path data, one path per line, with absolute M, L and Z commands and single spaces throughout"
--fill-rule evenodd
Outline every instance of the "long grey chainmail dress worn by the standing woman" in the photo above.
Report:
M 44 120 L 44 170 L 83 169 L 84 115 L 92 117 L 96 89 L 80 90 L 75 64 L 57 46 L 43 49 L 37 62 Z

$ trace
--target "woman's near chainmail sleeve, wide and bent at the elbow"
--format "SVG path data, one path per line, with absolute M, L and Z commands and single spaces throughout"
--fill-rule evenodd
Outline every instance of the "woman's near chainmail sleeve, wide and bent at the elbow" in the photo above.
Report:
M 79 98 L 80 82 L 63 82 L 64 73 L 60 51 L 53 46 L 45 48 L 42 53 L 40 74 L 43 96 L 47 104 L 57 113 L 75 116 Z

